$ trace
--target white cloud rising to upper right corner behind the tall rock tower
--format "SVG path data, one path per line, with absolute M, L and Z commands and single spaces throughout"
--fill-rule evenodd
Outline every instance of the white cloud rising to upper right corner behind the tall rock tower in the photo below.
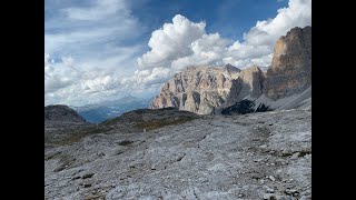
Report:
M 291 28 L 312 26 L 312 0 L 289 0 L 288 8 L 278 9 L 274 19 L 257 21 L 247 33 L 244 42 L 236 41 L 228 49 L 225 63 L 246 68 L 253 64 L 267 67 L 277 39 Z

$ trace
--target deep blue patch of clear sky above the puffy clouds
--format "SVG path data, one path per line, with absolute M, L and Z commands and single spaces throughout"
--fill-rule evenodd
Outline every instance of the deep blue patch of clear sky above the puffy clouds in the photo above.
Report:
M 132 13 L 148 27 L 146 39 L 152 30 L 170 22 L 177 14 L 191 21 L 206 21 L 207 32 L 219 32 L 222 37 L 241 39 L 256 21 L 276 16 L 279 8 L 288 4 L 287 0 L 149 0 L 144 3 L 134 0 Z

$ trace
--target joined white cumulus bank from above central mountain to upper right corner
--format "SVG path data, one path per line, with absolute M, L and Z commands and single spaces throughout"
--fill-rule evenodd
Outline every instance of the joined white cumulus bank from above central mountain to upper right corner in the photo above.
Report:
M 289 0 L 288 7 L 279 9 L 275 18 L 257 21 L 244 34 L 244 41 L 235 42 L 219 33 L 207 33 L 204 21 L 192 22 L 177 14 L 171 23 L 152 32 L 148 43 L 151 50 L 137 60 L 141 70 L 137 73 L 150 77 L 151 69 L 159 68 L 169 69 L 170 73 L 162 73 L 168 76 L 200 64 L 230 63 L 241 69 L 253 64 L 268 67 L 277 39 L 294 27 L 310 24 L 312 0 Z

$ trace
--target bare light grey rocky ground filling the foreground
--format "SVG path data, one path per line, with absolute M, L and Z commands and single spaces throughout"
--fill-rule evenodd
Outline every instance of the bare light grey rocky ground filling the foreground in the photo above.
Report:
M 310 108 L 169 118 L 47 147 L 44 199 L 312 199 Z

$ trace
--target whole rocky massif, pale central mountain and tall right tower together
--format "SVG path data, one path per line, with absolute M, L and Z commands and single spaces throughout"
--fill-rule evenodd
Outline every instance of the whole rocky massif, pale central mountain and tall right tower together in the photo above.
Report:
M 189 67 L 164 84 L 149 108 L 231 114 L 309 107 L 312 27 L 297 27 L 280 37 L 265 70 L 257 66 L 244 70 L 231 64 Z

